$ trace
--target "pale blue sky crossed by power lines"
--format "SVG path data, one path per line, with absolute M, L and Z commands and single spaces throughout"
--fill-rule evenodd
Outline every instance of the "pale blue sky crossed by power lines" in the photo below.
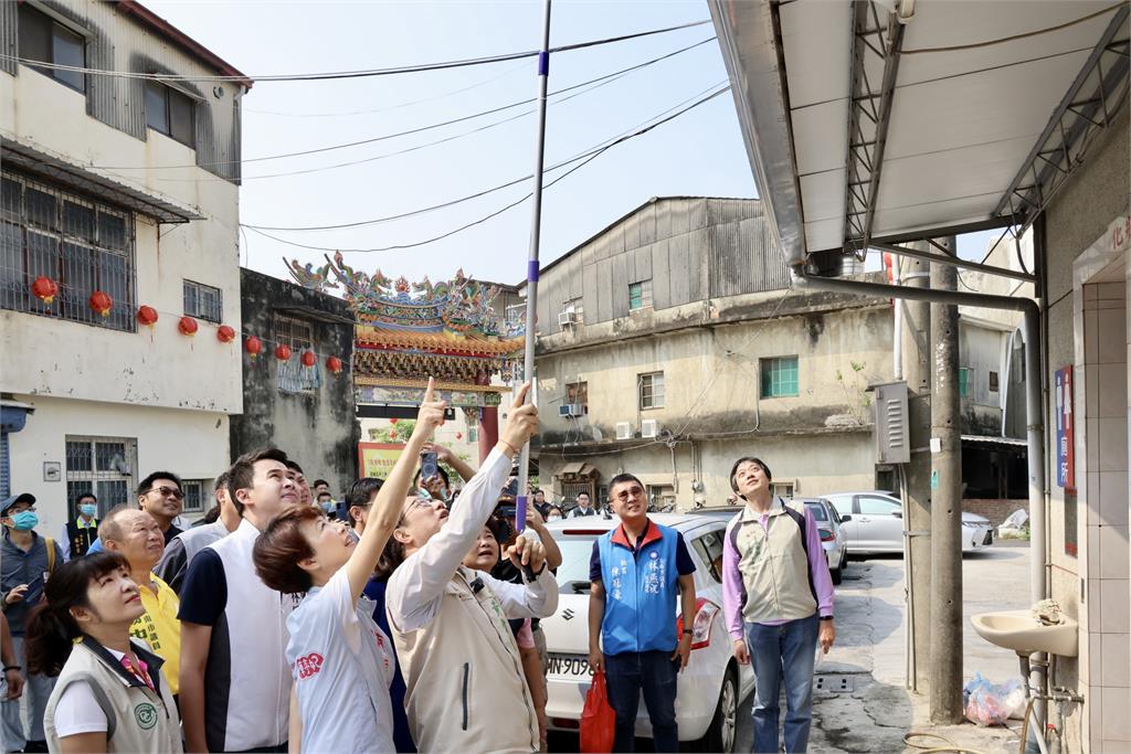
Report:
M 146 5 L 249 76 L 411 66 L 535 50 L 541 2 L 198 2 Z M 709 19 L 706 3 L 564 1 L 553 5 L 551 46 Z M 710 40 L 710 24 L 553 55 L 550 92 Z M 710 41 L 615 78 L 593 90 L 551 97 L 546 165 L 636 130 L 727 80 Z M 241 222 L 270 227 L 356 223 L 443 203 L 533 172 L 533 111 L 521 105 L 406 137 L 316 155 L 259 161 L 284 153 L 373 139 L 533 98 L 534 59 L 388 77 L 309 83 L 260 81 L 243 99 L 244 181 Z M 555 99 L 577 94 L 556 103 Z M 464 136 L 466 133 L 466 136 Z M 450 138 L 456 137 L 456 138 Z M 440 139 L 443 144 L 426 146 Z M 413 149 L 420 147 L 418 149 Z M 406 154 L 389 153 L 413 149 Z M 375 158 L 375 159 L 374 159 Z M 333 167 L 342 163 L 366 161 Z M 549 172 L 546 181 L 564 172 Z M 297 175 L 278 173 L 313 171 Z M 262 176 L 262 177 L 260 177 Z M 416 244 L 510 205 L 527 180 L 455 207 L 404 219 L 329 231 L 253 231 L 241 260 L 287 277 L 284 257 L 323 262 L 334 249 Z M 615 146 L 547 188 L 543 198 L 543 266 L 611 222 L 663 196 L 757 197 L 734 101 L 725 93 L 680 118 Z M 532 227 L 526 202 L 450 237 L 394 251 L 347 252 L 347 263 L 389 277 L 451 277 L 457 268 L 485 280 L 525 277 Z M 962 257 L 981 258 L 994 234 L 959 240 Z M 879 267 L 873 254 L 869 268 Z

